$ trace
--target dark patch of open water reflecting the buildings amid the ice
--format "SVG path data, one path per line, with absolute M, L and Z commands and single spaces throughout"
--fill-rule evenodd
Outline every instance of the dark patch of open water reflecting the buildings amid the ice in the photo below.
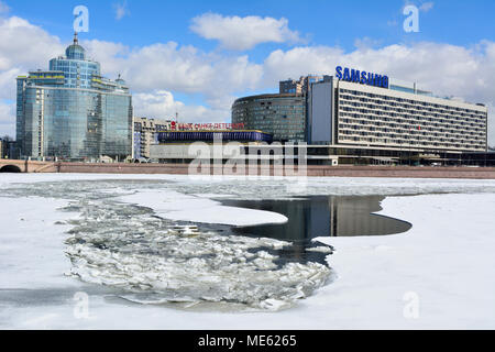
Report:
M 315 196 L 292 200 L 221 200 L 222 205 L 282 213 L 288 218 L 284 224 L 234 227 L 237 234 L 266 237 L 292 241 L 293 246 L 278 254 L 297 261 L 322 262 L 321 253 L 307 249 L 321 245 L 311 243 L 319 237 L 387 235 L 406 232 L 411 224 L 372 215 L 382 210 L 381 196 Z

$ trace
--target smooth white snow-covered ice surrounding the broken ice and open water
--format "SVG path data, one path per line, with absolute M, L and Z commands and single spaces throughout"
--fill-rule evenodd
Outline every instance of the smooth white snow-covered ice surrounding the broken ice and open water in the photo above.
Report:
M 110 180 L 116 178 L 138 180 L 135 187 L 140 186 L 139 180 L 157 179 L 160 187 L 167 184 L 170 190 L 185 195 L 286 197 L 296 194 L 290 191 L 292 180 L 202 182 L 156 175 L 7 175 L 1 176 L 0 188 L 12 187 L 13 183 L 28 186 L 66 179 L 77 183 L 107 179 L 111 188 Z M 63 253 L 67 238 L 64 232 L 72 226 L 54 223 L 78 218 L 74 212 L 56 210 L 64 200 L 50 198 L 50 189 L 45 197 L 52 200 L 0 198 L 0 221 L 4 224 L 0 231 L 0 327 L 494 329 L 494 187 L 493 180 L 309 179 L 302 194 L 419 194 L 388 197 L 380 212 L 409 221 L 413 229 L 392 237 L 321 239 L 336 248 L 329 261 L 337 279 L 300 300 L 297 307 L 270 314 L 196 312 L 110 299 L 95 289 L 99 285 L 85 285 L 63 275 L 72 268 Z M 128 193 L 123 189 L 119 191 L 122 194 Z M 73 196 L 67 193 L 68 198 Z M 88 318 L 74 316 L 76 290 L 89 295 Z M 417 317 L 407 315 L 411 304 L 417 304 Z

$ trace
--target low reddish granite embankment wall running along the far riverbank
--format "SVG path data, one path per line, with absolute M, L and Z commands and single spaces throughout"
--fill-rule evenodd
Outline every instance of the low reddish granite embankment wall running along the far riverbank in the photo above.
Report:
M 245 168 L 248 172 L 248 167 Z M 68 163 L 0 160 L 0 173 L 79 173 L 79 174 L 170 174 L 188 175 L 188 164 Z M 232 175 L 222 166 L 210 166 L 211 175 Z M 297 169 L 296 169 L 297 173 Z M 272 166 L 258 166 L 257 175 L 274 175 Z M 251 173 L 250 173 L 251 175 Z M 495 179 L 495 167 L 418 167 L 308 165 L 308 176 L 400 177 Z

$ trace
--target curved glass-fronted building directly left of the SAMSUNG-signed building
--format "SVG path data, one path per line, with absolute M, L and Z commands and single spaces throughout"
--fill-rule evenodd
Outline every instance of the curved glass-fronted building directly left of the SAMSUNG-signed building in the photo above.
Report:
M 304 142 L 306 97 L 285 94 L 238 99 L 232 106 L 232 123 L 244 123 L 245 130 L 267 132 L 274 141 Z

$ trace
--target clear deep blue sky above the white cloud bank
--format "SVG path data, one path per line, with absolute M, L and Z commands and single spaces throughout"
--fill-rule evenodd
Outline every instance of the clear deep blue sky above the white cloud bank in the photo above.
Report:
M 432 2 L 428 12 L 420 14 L 420 32 L 406 34 L 402 22 L 405 3 L 420 7 Z M 470 45 L 495 34 L 495 2 L 479 1 L 67 1 L 15 0 L 10 1 L 11 12 L 30 20 L 63 40 L 72 37 L 73 9 L 78 4 L 90 11 L 90 32 L 87 38 L 98 38 L 143 46 L 156 42 L 175 41 L 212 50 L 215 42 L 204 40 L 189 30 L 193 18 L 206 12 L 223 15 L 260 15 L 286 18 L 289 28 L 309 37 L 309 44 L 339 45 L 352 50 L 354 41 L 371 37 L 381 44 L 408 41 L 435 41 Z M 125 4 L 128 13 L 116 19 L 117 4 Z M 258 59 L 276 45 L 265 44 L 253 51 Z

